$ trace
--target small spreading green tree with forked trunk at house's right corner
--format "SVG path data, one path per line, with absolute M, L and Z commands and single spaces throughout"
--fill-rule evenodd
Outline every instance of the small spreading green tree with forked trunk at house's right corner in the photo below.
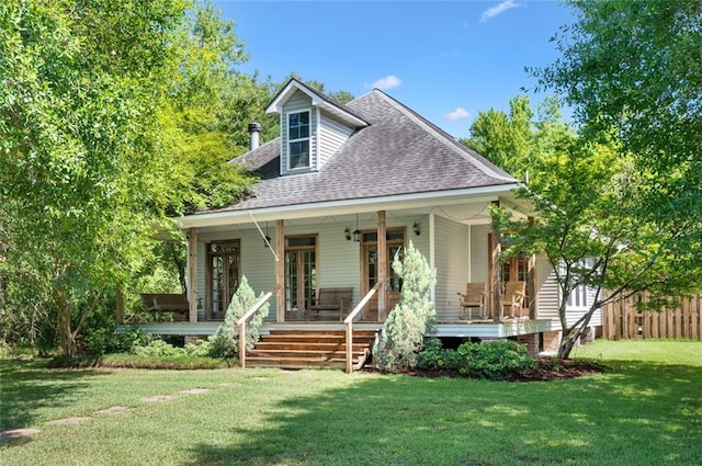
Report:
M 532 166 L 530 184 L 520 193 L 532 203 L 533 220 L 499 227 L 510 236 L 506 255 L 544 253 L 551 263 L 561 292 L 558 356 L 566 359 L 592 315 L 608 303 L 644 289 L 654 303 L 665 303 L 701 276 L 690 269 L 694 254 L 678 250 L 687 226 L 670 228 L 639 215 L 645 180 L 631 170 L 616 143 L 566 136 L 555 149 Z M 573 321 L 568 300 L 587 288 L 595 291 L 591 300 Z

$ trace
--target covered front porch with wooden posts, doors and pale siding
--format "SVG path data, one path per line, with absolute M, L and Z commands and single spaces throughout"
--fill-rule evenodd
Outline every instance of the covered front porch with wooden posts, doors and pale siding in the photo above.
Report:
M 535 260 L 500 262 L 500 235 L 490 229 L 490 205 L 500 202 L 510 200 L 407 198 L 363 208 L 335 205 L 182 218 L 188 291 L 180 320 L 216 328 L 246 276 L 257 294 L 272 293 L 267 323 L 341 322 L 376 284 L 380 291 L 370 296 L 355 321 L 382 323 L 400 295 L 401 279 L 392 269 L 393 260 L 410 241 L 435 271 L 431 298 L 439 321 L 534 319 Z M 372 209 L 376 204 L 386 208 Z M 505 284 L 514 281 L 523 284 L 524 299 L 519 308 L 507 310 Z M 462 306 L 461 294 L 466 283 L 474 282 L 485 287 L 479 316 Z M 123 316 L 118 309 L 117 319 Z

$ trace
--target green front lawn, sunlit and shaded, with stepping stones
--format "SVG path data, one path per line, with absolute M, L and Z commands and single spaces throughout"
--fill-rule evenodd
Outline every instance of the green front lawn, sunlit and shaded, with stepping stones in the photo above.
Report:
M 578 350 L 604 374 L 531 384 L 4 361 L 0 425 L 42 432 L 0 443 L 0 464 L 702 464 L 702 343 L 631 343 Z M 211 391 L 180 394 L 195 387 Z M 111 406 L 132 409 L 94 414 Z M 46 423 L 72 416 L 92 419 Z

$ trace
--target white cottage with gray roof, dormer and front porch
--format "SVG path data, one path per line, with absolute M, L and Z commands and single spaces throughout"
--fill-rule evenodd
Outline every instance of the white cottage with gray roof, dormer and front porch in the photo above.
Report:
M 411 241 L 437 272 L 439 337 L 516 338 L 534 352 L 557 345 L 558 287 L 547 262 L 497 257 L 490 205 L 524 215 L 509 173 L 380 90 L 342 105 L 293 79 L 268 112 L 280 115 L 281 136 L 259 146 L 250 125 L 251 150 L 233 161 L 260 174 L 252 195 L 178 219 L 189 239 L 186 321 L 143 328 L 211 334 L 246 276 L 257 294 L 272 291 L 264 332 L 342 329 L 341 314 L 310 320 L 316 295 L 341 288 L 351 288 L 350 308 L 367 299 L 355 328 L 382 329 L 399 297 L 393 258 Z M 497 302 L 510 281 L 526 283 L 514 317 Z M 462 318 L 458 293 L 469 282 L 487 284 L 488 319 Z M 373 294 L 377 283 L 386 286 Z M 576 314 L 587 298 L 573 297 Z

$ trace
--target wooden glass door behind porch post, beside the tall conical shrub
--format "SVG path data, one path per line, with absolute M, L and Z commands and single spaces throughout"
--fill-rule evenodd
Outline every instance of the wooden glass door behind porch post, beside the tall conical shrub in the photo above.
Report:
M 393 261 L 396 257 L 403 259 L 405 250 L 405 228 L 388 228 L 386 234 L 385 247 L 387 248 L 387 265 L 386 275 L 389 277 L 388 288 L 386 291 L 385 304 L 387 306 L 386 315 L 395 307 L 399 302 L 399 295 L 401 291 L 401 280 L 397 273 L 393 270 Z M 363 265 L 363 281 L 361 289 L 362 295 L 365 295 L 375 284 L 378 277 L 377 263 L 377 231 L 363 231 L 361 234 L 361 263 Z M 374 295 L 369 302 L 367 306 L 362 314 L 363 320 L 377 321 L 377 294 Z

